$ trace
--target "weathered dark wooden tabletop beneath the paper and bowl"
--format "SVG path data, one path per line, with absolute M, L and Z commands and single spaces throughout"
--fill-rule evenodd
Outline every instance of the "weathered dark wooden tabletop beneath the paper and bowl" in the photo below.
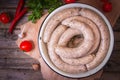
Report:
M 0 0 L 0 12 L 6 11 L 13 18 L 17 3 L 18 0 Z M 17 34 L 20 33 L 19 25 L 28 21 L 28 14 L 19 21 L 12 35 L 7 33 L 10 23 L 0 23 L 0 80 L 43 80 L 41 72 L 32 67 L 32 64 L 39 62 L 20 51 L 15 43 Z M 113 30 L 114 50 L 103 68 L 100 80 L 120 80 L 120 17 Z

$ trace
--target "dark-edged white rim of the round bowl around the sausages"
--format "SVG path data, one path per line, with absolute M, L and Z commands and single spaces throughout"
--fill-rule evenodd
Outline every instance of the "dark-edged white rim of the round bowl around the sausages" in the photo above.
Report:
M 108 29 L 109 29 L 109 33 L 110 33 L 110 46 L 109 46 L 109 49 L 108 49 L 108 54 L 106 55 L 106 57 L 105 57 L 105 59 L 102 61 L 102 63 L 101 63 L 100 65 L 98 65 L 96 68 L 92 69 L 92 70 L 89 70 L 89 71 L 87 71 L 87 72 L 85 72 L 85 73 L 82 73 L 82 74 L 80 73 L 79 75 L 74 75 L 74 76 L 73 76 L 73 74 L 72 74 L 72 75 L 67 75 L 67 74 L 62 74 L 61 72 L 57 72 L 56 69 L 54 69 L 54 68 L 49 64 L 49 62 L 47 62 L 47 60 L 45 59 L 45 55 L 44 55 L 43 49 L 42 49 L 42 47 L 41 47 L 41 45 L 42 45 L 42 38 L 41 38 L 41 37 L 42 37 L 42 35 L 43 35 L 43 31 L 44 31 L 44 28 L 45 28 L 45 26 L 43 26 L 43 25 L 45 25 L 45 23 L 46 23 L 47 21 L 49 21 L 50 17 L 51 17 L 54 13 L 59 12 L 60 10 L 63 10 L 63 9 L 66 9 L 66 8 L 73 8 L 73 7 L 88 8 L 88 9 L 91 9 L 91 10 L 97 12 L 97 13 L 102 17 L 102 19 L 106 22 L 107 27 L 108 27 Z M 47 19 L 47 20 L 46 20 L 46 19 Z M 42 26 L 43 26 L 43 27 L 42 27 Z M 109 20 L 107 19 L 107 17 L 106 17 L 101 11 L 99 11 L 99 10 L 96 9 L 95 7 L 90 6 L 90 5 L 88 5 L 88 4 L 83 4 L 83 3 L 71 3 L 71 4 L 65 4 L 65 5 L 60 6 L 59 8 L 55 9 L 52 13 L 50 13 L 50 14 L 45 18 L 45 20 L 44 20 L 43 23 L 41 24 L 41 28 L 40 28 L 39 33 L 38 33 L 38 43 L 39 43 L 39 45 L 38 45 L 38 46 L 39 46 L 39 51 L 40 51 L 40 54 L 41 54 L 43 60 L 45 61 L 45 63 L 46 63 L 54 72 L 56 72 L 56 73 L 58 73 L 58 74 L 60 74 L 60 75 L 62 75 L 62 76 L 65 76 L 65 77 L 70 77 L 70 78 L 83 78 L 83 77 L 88 77 L 88 76 L 90 76 L 90 75 L 92 75 L 92 74 L 97 73 L 97 72 L 98 72 L 99 70 L 101 70 L 101 69 L 105 66 L 105 64 L 108 62 L 108 60 L 109 60 L 109 58 L 110 58 L 110 56 L 111 56 L 111 54 L 112 54 L 112 50 L 113 50 L 113 46 L 114 46 L 114 35 L 113 35 L 112 26 L 111 26 Z M 99 66 L 100 66 L 100 67 L 99 67 Z

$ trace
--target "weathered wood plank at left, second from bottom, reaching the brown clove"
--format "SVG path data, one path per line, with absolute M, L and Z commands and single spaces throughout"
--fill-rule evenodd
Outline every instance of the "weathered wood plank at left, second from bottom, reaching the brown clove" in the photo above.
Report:
M 32 69 L 35 70 L 34 65 L 39 66 L 39 61 L 33 58 L 4 58 L 0 59 L 1 69 Z

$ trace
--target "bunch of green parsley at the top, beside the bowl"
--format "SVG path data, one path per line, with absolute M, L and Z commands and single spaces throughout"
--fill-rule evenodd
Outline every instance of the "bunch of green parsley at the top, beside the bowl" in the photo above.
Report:
M 42 16 L 44 9 L 47 9 L 49 13 L 62 5 L 60 0 L 28 0 L 27 6 L 32 12 L 28 16 L 28 20 L 36 22 Z

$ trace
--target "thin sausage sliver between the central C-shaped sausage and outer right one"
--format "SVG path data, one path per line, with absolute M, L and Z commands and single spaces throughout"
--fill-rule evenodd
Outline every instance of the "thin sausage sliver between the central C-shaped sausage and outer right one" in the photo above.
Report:
M 95 39 L 94 39 L 94 45 L 88 54 L 94 53 L 100 44 L 100 31 L 98 27 L 93 21 L 82 16 L 73 16 L 73 17 L 67 18 L 66 21 L 73 20 L 73 19 L 86 23 L 92 29 Z

